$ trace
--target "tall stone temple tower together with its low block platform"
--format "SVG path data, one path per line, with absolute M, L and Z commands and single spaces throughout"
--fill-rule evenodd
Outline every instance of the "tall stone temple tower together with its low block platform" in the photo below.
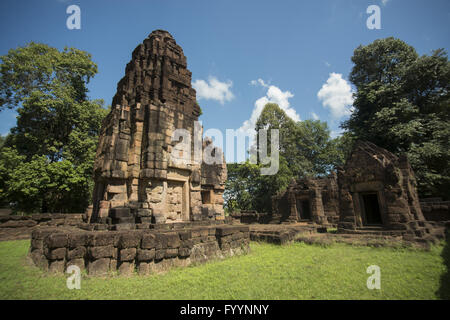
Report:
M 102 123 L 93 205 L 84 223 L 33 230 L 35 265 L 148 274 L 248 252 L 248 226 L 225 223 L 225 159 L 202 138 L 186 66 L 167 31 L 133 51 Z

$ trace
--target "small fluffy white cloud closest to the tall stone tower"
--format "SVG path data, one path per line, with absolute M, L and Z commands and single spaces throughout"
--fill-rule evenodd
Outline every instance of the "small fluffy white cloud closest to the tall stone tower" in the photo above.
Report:
M 224 104 L 234 98 L 234 94 L 230 90 L 233 86 L 232 81 L 221 82 L 216 77 L 209 77 L 208 82 L 195 80 L 192 83 L 192 86 L 197 91 L 197 99 L 217 100 Z

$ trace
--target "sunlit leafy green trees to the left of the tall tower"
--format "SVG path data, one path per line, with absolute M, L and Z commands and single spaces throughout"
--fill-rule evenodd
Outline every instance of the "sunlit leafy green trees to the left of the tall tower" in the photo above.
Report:
M 18 112 L 0 149 L 3 200 L 24 212 L 84 211 L 107 113 L 103 101 L 87 98 L 97 66 L 86 52 L 36 43 L 1 59 L 0 109 Z

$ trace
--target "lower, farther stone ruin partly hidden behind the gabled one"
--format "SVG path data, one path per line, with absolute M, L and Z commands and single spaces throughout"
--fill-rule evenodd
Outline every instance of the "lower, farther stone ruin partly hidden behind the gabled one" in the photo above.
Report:
M 285 222 L 336 224 L 339 213 L 336 174 L 293 180 L 284 192 L 272 198 L 272 213 Z

